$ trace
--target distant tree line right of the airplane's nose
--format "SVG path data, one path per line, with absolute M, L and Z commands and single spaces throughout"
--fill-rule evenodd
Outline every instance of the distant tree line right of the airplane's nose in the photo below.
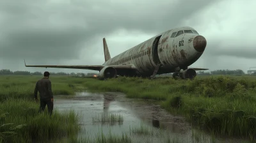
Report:
M 199 71 L 198 75 L 244 75 L 243 70 L 214 70 L 211 72 Z

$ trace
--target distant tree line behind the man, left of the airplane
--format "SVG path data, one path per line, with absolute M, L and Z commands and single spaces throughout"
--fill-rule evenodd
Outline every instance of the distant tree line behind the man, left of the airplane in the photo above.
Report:
M 8 69 L 3 69 L 0 70 L 0 75 L 43 75 L 42 72 L 28 72 L 28 71 L 15 71 L 12 72 L 11 70 Z M 51 72 L 51 75 L 70 75 L 74 77 L 85 77 L 85 76 L 93 76 L 93 75 L 98 75 L 98 73 L 65 73 L 65 72 Z

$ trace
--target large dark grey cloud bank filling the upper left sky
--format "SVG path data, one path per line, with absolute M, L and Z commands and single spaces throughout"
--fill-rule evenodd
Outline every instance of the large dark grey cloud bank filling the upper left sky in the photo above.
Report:
M 5 58 L 77 59 L 95 36 L 117 29 L 161 33 L 212 2 L 197 1 L 6 1 L 0 44 Z M 199 8 L 198 8 L 199 7 Z M 86 45 L 84 47 L 84 45 Z

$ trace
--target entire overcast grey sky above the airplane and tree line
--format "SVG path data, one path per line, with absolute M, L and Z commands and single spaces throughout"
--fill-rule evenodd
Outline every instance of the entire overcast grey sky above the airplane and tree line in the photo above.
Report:
M 204 54 L 191 66 L 246 72 L 256 66 L 255 7 L 255 0 L 1 0 L 0 69 L 45 71 L 26 68 L 23 59 L 102 64 L 104 37 L 114 57 L 168 29 L 191 26 L 207 40 Z

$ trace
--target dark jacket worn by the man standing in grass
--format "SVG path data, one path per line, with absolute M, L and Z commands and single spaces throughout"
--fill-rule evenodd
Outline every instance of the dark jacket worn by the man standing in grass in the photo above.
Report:
M 40 94 L 40 99 L 51 99 L 52 96 L 52 84 L 51 81 L 44 77 L 36 82 L 36 87 L 34 91 L 34 96 L 37 99 L 37 91 Z

